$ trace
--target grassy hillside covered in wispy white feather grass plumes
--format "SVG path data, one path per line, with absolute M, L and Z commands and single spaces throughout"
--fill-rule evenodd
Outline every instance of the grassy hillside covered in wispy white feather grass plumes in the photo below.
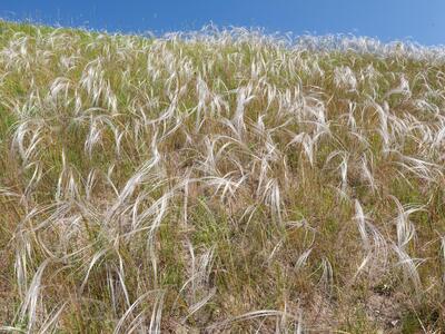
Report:
M 0 330 L 444 332 L 444 55 L 0 21 Z

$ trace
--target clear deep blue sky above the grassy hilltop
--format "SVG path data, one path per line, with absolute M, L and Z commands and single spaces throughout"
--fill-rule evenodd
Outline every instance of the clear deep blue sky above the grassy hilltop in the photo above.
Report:
M 196 30 L 214 22 L 445 45 L 445 0 L 1 0 L 0 17 L 121 32 Z

